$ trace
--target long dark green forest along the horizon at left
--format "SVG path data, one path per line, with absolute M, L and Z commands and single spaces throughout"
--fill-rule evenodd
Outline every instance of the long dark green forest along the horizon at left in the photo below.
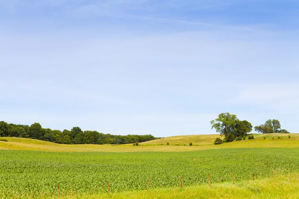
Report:
M 130 144 L 159 139 L 152 135 L 111 135 L 98 131 L 83 131 L 80 127 L 71 130 L 42 128 L 39 123 L 28 125 L 8 124 L 0 121 L 0 137 L 24 137 L 59 144 Z

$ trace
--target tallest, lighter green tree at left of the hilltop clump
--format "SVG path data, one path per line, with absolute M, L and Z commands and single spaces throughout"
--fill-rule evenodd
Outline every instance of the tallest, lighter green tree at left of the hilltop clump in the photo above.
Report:
M 238 118 L 234 114 L 229 114 L 229 112 L 220 113 L 218 118 L 211 121 L 212 129 L 215 128 L 216 132 L 220 133 L 220 135 L 234 135 L 236 132 L 237 120 Z

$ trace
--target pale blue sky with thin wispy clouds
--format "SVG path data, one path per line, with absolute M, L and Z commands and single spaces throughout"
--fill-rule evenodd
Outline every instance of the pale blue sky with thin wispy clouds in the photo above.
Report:
M 156 137 L 221 112 L 299 133 L 298 0 L 0 0 L 0 120 Z

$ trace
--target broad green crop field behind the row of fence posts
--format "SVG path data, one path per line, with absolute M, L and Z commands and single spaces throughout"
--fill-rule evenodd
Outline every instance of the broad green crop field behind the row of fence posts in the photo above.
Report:
M 270 177 L 299 171 L 299 149 L 193 152 L 37 152 L 0 150 L 0 198 L 98 194 Z

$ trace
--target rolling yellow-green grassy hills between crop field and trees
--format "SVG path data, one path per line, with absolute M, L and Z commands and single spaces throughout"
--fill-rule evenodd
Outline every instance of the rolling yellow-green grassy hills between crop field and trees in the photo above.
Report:
M 291 135 L 291 138 L 288 136 Z M 28 138 L 3 137 L 8 142 L 0 141 L 0 149 L 12 150 L 36 150 L 36 151 L 101 151 L 101 152 L 137 152 L 137 151 L 196 151 L 205 149 L 221 148 L 258 148 L 258 147 L 299 147 L 299 134 L 255 134 L 253 140 L 233 141 L 215 145 L 214 140 L 220 137 L 212 135 L 185 135 L 172 136 L 140 143 L 139 146 L 133 144 L 126 145 L 67 145 L 34 140 Z M 266 139 L 264 139 L 266 137 Z M 283 139 L 278 139 L 282 137 Z M 274 139 L 272 139 L 274 138 Z M 223 139 L 223 137 L 222 137 Z M 167 142 L 169 145 L 166 145 Z M 192 142 L 193 146 L 189 146 Z M 162 145 L 161 145 L 162 144 Z M 184 146 L 186 145 L 186 146 Z

